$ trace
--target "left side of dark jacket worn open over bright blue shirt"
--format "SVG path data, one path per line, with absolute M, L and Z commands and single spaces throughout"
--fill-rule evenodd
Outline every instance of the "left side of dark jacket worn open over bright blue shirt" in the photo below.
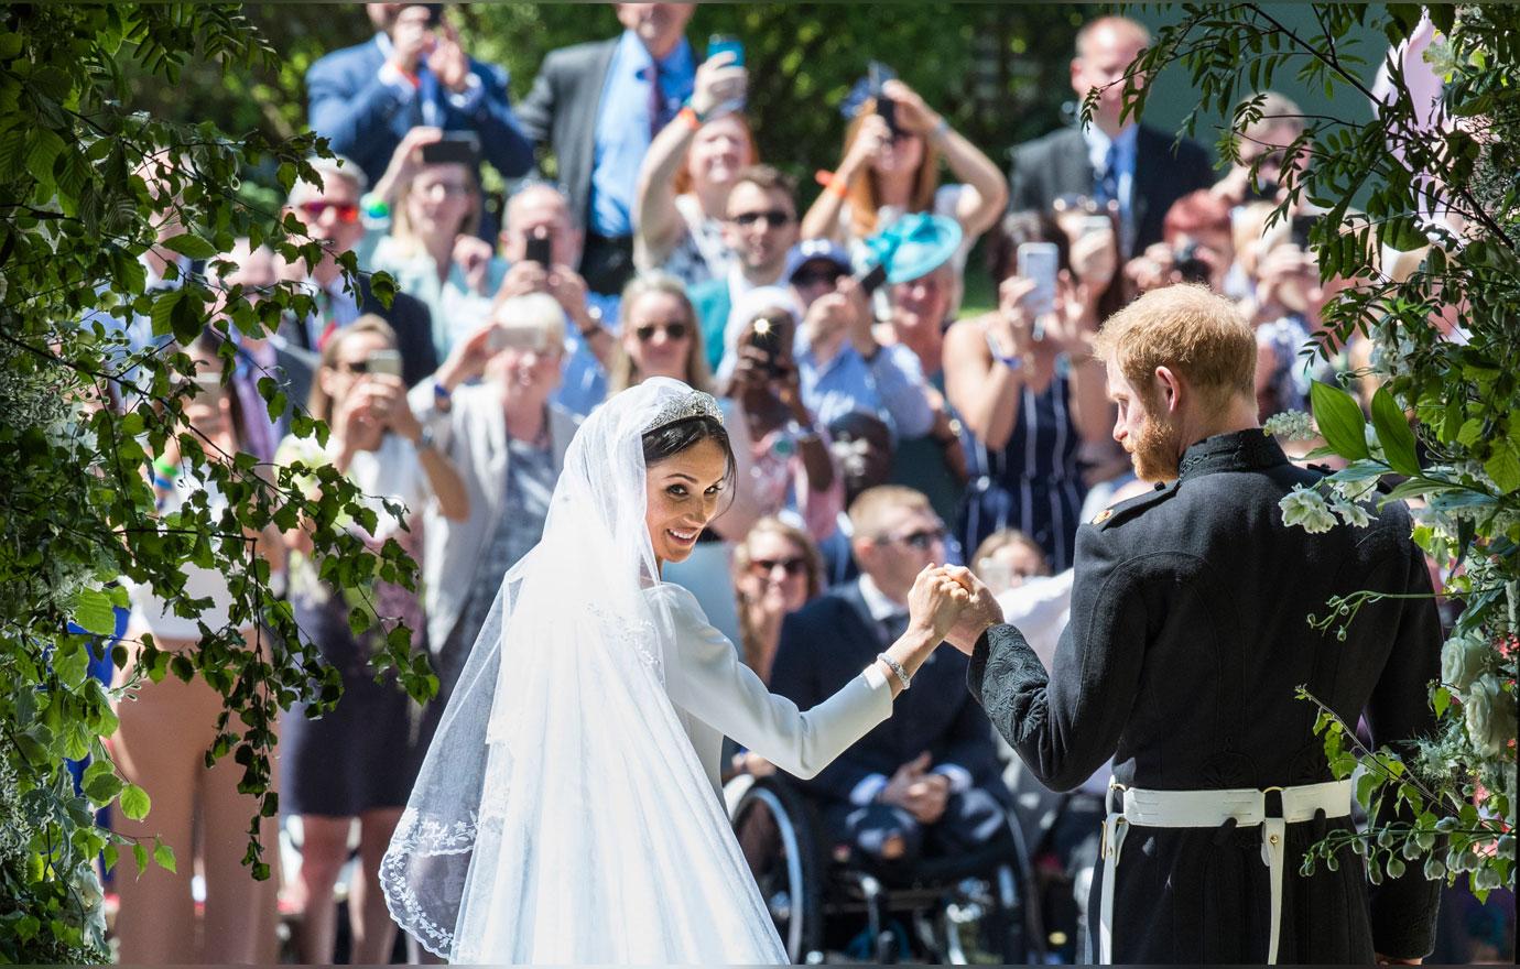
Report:
M 556 181 L 570 194 L 570 217 L 581 226 L 587 225 L 591 197 L 596 112 L 619 39 L 550 50 L 534 77 L 534 90 L 517 108 L 527 137 L 553 150 L 559 166 Z

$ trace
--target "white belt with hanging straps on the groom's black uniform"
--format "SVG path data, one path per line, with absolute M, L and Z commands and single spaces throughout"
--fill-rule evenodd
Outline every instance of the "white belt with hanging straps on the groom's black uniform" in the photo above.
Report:
M 1281 816 L 1268 816 L 1268 794 L 1281 796 Z M 1122 793 L 1120 810 L 1114 810 L 1114 794 Z M 1099 899 L 1097 948 L 1102 964 L 1113 963 L 1114 875 L 1119 852 L 1131 826 L 1142 828 L 1218 828 L 1234 820 L 1240 828 L 1262 826 L 1262 863 L 1268 867 L 1272 887 L 1272 936 L 1266 961 L 1277 963 L 1277 945 L 1283 920 L 1283 869 L 1287 825 L 1313 820 L 1319 811 L 1325 817 L 1351 813 L 1351 781 L 1304 784 L 1300 787 L 1231 788 L 1214 791 L 1152 791 L 1111 784 L 1108 817 L 1104 820 L 1104 890 Z

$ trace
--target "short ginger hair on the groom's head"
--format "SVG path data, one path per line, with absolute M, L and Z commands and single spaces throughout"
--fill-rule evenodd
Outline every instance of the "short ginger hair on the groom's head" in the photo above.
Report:
M 1230 299 L 1205 286 L 1166 286 L 1140 296 L 1108 317 L 1093 354 L 1117 363 L 1145 404 L 1155 399 L 1158 366 L 1216 406 L 1256 396 L 1256 334 Z

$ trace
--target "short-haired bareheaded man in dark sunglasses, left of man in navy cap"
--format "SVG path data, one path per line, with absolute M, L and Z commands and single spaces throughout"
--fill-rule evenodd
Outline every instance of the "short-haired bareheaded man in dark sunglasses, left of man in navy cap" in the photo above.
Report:
M 796 185 L 771 166 L 749 166 L 728 190 L 724 245 L 733 254 L 728 275 L 692 287 L 702 322 L 702 345 L 716 374 L 724 361 L 724 330 L 739 298 L 783 282 L 786 255 L 796 243 Z

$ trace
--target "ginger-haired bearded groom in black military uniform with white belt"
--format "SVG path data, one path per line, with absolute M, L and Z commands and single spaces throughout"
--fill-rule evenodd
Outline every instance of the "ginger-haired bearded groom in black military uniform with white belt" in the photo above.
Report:
M 1304 851 L 1350 828 L 1304 685 L 1374 747 L 1409 750 L 1433 728 L 1426 685 L 1441 627 L 1403 503 L 1365 527 L 1310 535 L 1278 501 L 1321 475 L 1289 463 L 1257 424 L 1256 340 L 1222 296 L 1151 292 L 1097 336 L 1114 439 L 1155 483 L 1100 512 L 1076 541 L 1072 621 L 1047 674 L 970 573 L 948 641 L 994 726 L 1052 790 L 1114 758 L 1093 882 L 1104 963 L 1417 963 L 1432 949 L 1439 882 L 1411 864 L 1370 887 L 1338 855 L 1310 878 Z M 1366 604 L 1345 639 L 1310 629 L 1325 600 Z M 1392 811 L 1379 820 L 1386 823 Z

